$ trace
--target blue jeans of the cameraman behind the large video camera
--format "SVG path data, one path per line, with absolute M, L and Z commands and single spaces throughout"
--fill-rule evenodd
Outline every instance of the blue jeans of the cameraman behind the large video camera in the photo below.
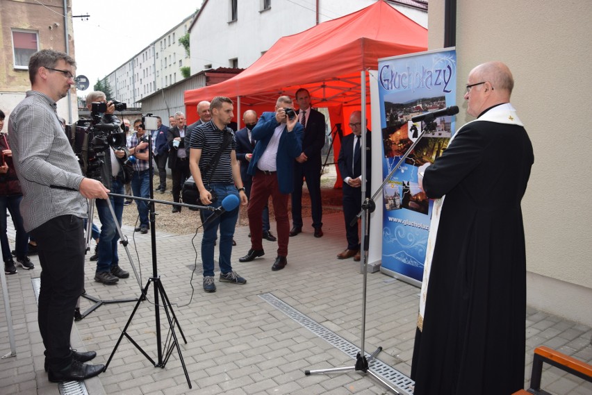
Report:
M 111 192 L 114 194 L 123 194 L 124 186 L 119 180 L 113 179 L 111 182 Z M 123 215 L 123 201 L 121 197 L 109 196 L 113 211 L 117 222 L 122 226 Z M 117 242 L 120 239 L 120 234 L 117 232 L 115 220 L 109 210 L 107 201 L 104 199 L 96 199 L 94 203 L 97 204 L 97 214 L 99 221 L 101 221 L 101 234 L 99 235 L 99 260 L 97 260 L 97 273 L 101 271 L 110 271 L 111 267 L 117 266 L 120 258 L 117 255 Z

